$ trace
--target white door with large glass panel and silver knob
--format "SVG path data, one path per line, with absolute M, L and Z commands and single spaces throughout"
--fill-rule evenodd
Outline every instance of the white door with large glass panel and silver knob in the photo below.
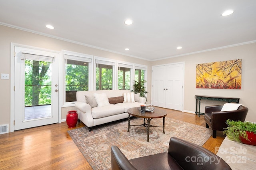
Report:
M 58 123 L 58 53 L 15 47 L 14 130 Z

